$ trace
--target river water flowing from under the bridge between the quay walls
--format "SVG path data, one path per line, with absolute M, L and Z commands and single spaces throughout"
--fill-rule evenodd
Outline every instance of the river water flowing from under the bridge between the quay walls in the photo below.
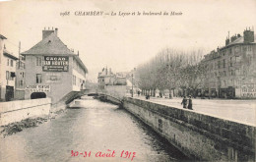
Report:
M 188 160 L 126 110 L 97 100 L 79 102 L 80 109 L 0 138 L 0 161 Z

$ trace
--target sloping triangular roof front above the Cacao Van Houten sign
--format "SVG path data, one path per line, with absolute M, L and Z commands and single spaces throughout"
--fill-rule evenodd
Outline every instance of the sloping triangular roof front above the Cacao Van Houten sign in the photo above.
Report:
M 67 45 L 65 45 L 56 33 L 52 32 L 30 50 L 25 51 L 22 55 L 50 54 L 50 55 L 74 55 Z

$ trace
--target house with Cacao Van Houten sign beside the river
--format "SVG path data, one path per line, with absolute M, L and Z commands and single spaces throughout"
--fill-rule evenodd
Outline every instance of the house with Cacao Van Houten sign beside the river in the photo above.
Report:
M 42 30 L 42 40 L 25 57 L 25 98 L 50 97 L 58 102 L 70 92 L 85 88 L 88 70 L 79 54 L 58 37 L 58 28 Z

